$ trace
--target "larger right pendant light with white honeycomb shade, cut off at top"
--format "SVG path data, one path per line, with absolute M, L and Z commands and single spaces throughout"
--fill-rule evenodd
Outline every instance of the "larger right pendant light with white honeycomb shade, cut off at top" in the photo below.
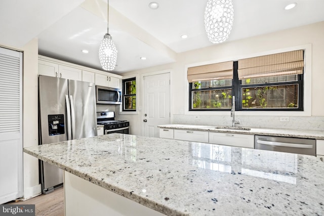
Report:
M 232 29 L 234 9 L 231 0 L 208 0 L 205 9 L 205 29 L 214 44 L 224 42 Z

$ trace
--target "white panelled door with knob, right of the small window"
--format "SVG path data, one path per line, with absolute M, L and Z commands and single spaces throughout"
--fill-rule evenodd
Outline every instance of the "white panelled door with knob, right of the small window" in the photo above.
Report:
M 170 124 L 170 73 L 144 76 L 144 136 L 159 137 L 157 125 Z

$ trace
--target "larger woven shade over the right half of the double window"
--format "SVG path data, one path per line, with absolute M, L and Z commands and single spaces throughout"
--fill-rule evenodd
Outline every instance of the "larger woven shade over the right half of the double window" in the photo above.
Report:
M 303 71 L 303 50 L 238 60 L 239 79 L 297 75 Z

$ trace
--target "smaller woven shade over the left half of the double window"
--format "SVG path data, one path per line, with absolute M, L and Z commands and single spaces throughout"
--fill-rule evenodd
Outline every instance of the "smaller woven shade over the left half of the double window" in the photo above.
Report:
M 188 68 L 188 82 L 232 78 L 233 62 L 221 62 Z

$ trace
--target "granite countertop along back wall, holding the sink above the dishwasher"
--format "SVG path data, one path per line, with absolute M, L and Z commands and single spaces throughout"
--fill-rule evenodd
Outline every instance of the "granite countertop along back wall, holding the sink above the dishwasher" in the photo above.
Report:
M 314 130 L 250 127 L 251 128 L 250 131 L 242 131 L 236 129 L 218 129 L 215 128 L 216 126 L 211 126 L 211 125 L 192 125 L 192 124 L 165 124 L 165 125 L 158 125 L 158 127 L 168 128 L 168 129 L 208 131 L 208 132 L 217 132 L 217 133 L 297 137 L 297 138 L 324 140 L 324 131 L 314 131 Z

